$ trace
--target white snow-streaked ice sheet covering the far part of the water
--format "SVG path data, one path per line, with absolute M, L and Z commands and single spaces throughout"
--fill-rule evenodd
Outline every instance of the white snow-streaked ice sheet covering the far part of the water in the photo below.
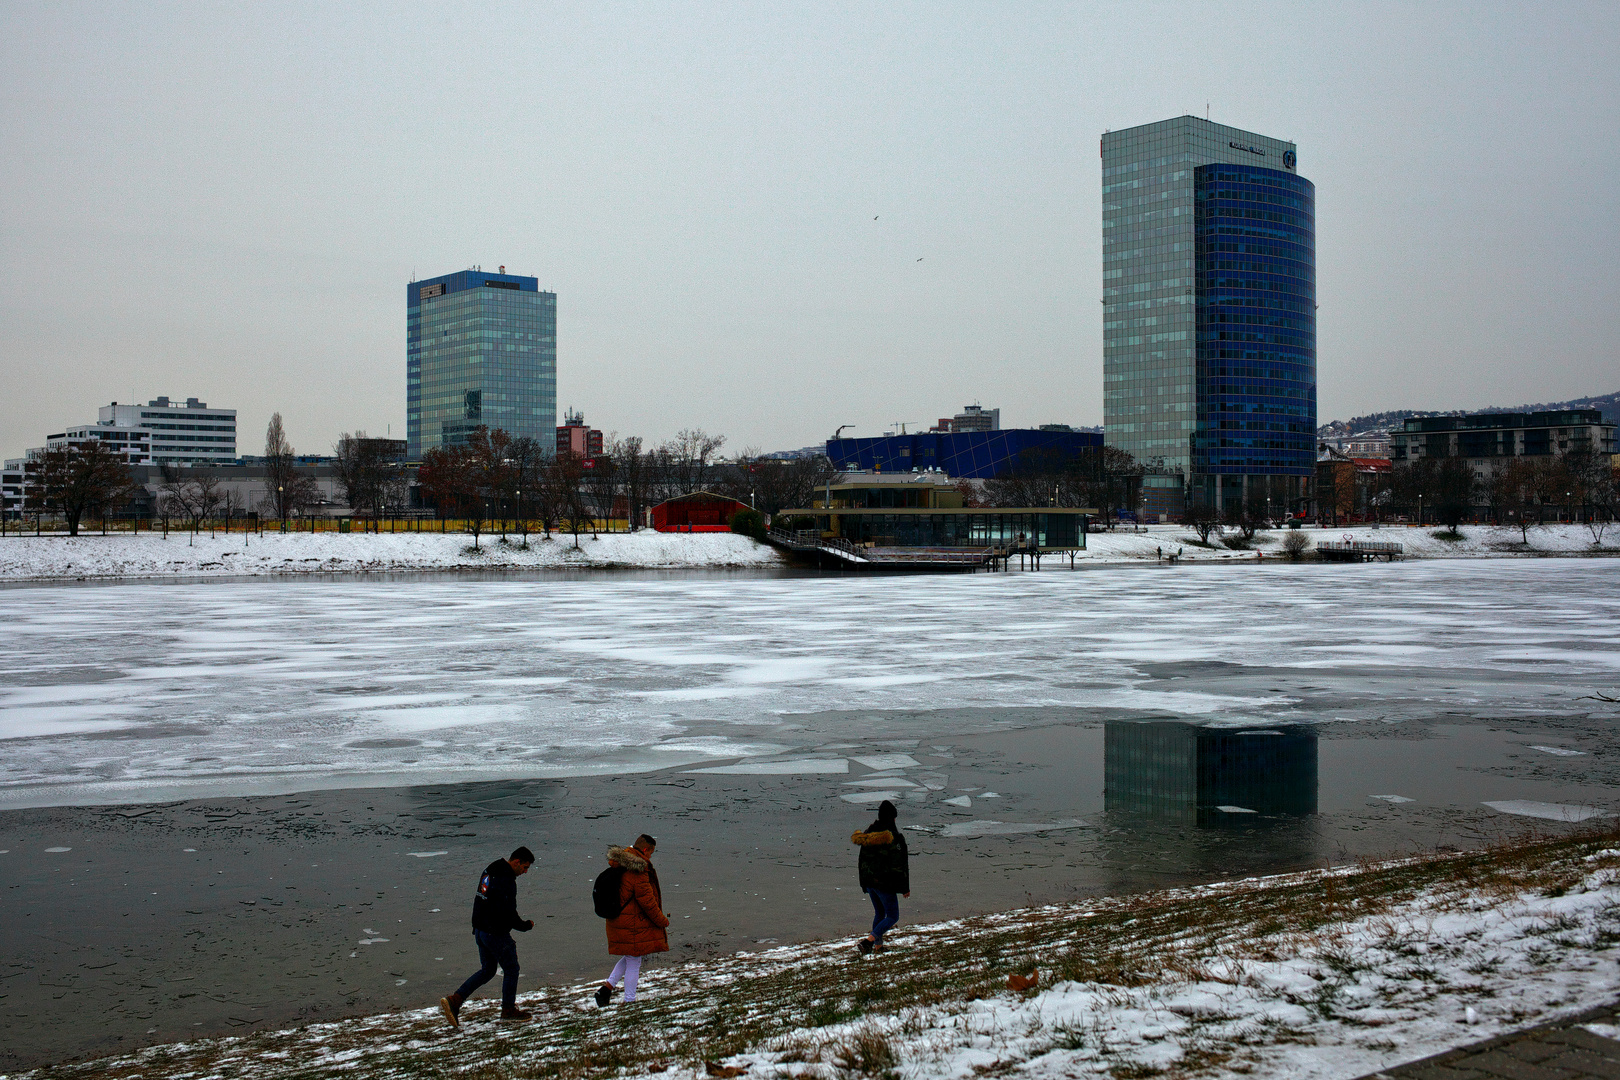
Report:
M 8 588 L 0 806 L 831 772 L 841 740 L 1089 719 L 1604 735 L 1617 612 L 1620 560 L 1552 559 Z

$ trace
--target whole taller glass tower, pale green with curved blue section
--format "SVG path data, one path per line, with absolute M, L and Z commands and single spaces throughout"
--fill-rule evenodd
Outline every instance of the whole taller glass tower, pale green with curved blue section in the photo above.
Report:
M 1197 117 L 1110 131 L 1108 445 L 1236 513 L 1298 508 L 1315 470 L 1315 189 L 1293 142 Z

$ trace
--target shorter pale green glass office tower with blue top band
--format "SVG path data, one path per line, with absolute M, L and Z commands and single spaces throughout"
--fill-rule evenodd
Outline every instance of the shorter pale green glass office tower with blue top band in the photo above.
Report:
M 533 277 L 460 270 L 405 287 L 405 453 L 501 427 L 551 447 L 557 295 Z

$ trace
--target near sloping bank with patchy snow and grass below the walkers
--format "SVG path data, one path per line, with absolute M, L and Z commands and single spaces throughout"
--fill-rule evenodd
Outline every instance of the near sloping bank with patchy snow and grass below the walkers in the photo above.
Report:
M 1349 1078 L 1614 997 L 1615 839 L 902 926 L 870 959 L 742 950 L 653 970 L 633 1006 L 596 1009 L 595 983 L 523 994 L 528 1023 L 483 994 L 460 1031 L 424 1001 L 24 1075 Z

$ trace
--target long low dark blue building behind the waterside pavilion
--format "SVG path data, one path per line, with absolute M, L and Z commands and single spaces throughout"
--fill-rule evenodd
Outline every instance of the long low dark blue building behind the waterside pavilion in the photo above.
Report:
M 1103 437 L 1089 431 L 1040 431 L 1004 427 L 1000 431 L 927 432 L 876 439 L 828 439 L 826 457 L 834 468 L 868 473 L 910 473 L 940 470 L 946 476 L 990 479 L 1004 473 L 1025 450 L 1076 458 L 1098 450 Z

